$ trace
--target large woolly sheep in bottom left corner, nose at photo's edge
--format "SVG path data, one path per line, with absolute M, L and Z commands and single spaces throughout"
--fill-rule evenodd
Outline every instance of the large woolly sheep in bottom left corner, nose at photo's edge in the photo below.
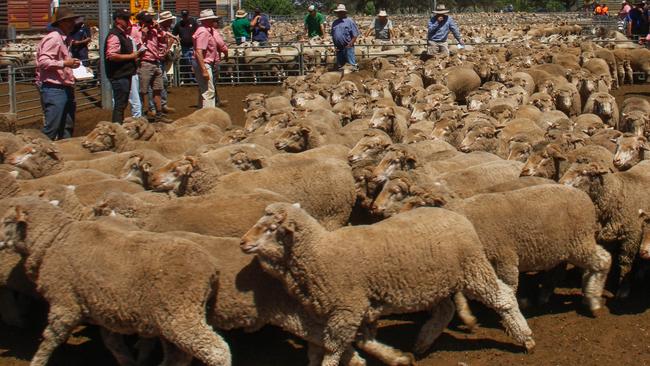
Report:
M 9 199 L 2 206 L 2 247 L 26 258 L 28 276 L 50 305 L 32 365 L 46 365 L 82 322 L 160 336 L 179 364 L 195 356 L 208 365 L 230 365 L 228 344 L 206 322 L 217 263 L 195 243 L 74 222 L 38 198 Z M 142 296 L 134 297 L 134 289 Z

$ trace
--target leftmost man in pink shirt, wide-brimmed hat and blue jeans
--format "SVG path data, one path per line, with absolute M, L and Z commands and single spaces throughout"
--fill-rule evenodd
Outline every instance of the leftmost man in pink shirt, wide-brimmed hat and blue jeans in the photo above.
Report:
M 73 11 L 60 7 L 52 21 L 53 30 L 38 44 L 36 50 L 36 85 L 41 94 L 43 133 L 52 140 L 72 137 L 76 103 L 72 69 L 80 61 L 72 58 L 67 36 L 76 19 Z

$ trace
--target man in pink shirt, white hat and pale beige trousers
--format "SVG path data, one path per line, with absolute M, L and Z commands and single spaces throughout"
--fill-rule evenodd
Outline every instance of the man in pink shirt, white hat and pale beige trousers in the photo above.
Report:
M 212 9 L 202 10 L 199 20 L 201 26 L 192 36 L 194 40 L 194 74 L 199 84 L 201 105 L 203 108 L 215 107 L 219 99 L 215 90 L 215 67 L 221 60 L 221 54 L 228 57 L 228 46 L 216 28 L 219 19 Z

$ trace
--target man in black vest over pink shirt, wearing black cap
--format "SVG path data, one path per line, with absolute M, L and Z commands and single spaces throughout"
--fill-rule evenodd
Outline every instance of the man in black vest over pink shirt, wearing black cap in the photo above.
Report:
M 124 110 L 129 101 L 131 81 L 137 70 L 137 60 L 142 54 L 136 50 L 131 31 L 131 12 L 116 10 L 113 14 L 114 26 L 106 37 L 105 65 L 106 77 L 113 89 L 113 117 L 115 123 L 124 121 Z

